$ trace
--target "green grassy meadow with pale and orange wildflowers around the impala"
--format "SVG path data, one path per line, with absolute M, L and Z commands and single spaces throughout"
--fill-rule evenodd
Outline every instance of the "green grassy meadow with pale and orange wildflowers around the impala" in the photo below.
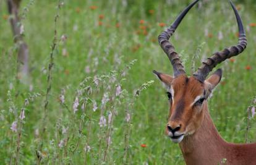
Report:
M 152 70 L 173 74 L 158 35 L 189 2 L 23 0 L 22 77 L 12 15 L 0 0 L 0 164 L 184 164 L 164 135 L 168 97 Z M 226 141 L 255 142 L 256 4 L 233 2 L 248 46 L 218 65 L 223 78 L 208 104 Z M 171 41 L 189 75 L 236 44 L 228 1 L 202 1 Z

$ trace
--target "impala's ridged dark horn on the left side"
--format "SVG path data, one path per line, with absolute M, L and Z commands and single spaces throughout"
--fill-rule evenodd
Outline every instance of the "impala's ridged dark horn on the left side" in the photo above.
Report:
M 173 35 L 176 28 L 179 26 L 179 23 L 181 23 L 182 19 L 185 17 L 187 12 L 198 2 L 199 0 L 196 0 L 192 2 L 189 6 L 184 9 L 184 11 L 179 14 L 177 19 L 174 21 L 173 25 L 166 29 L 161 35 L 158 36 L 158 42 L 163 49 L 163 51 L 167 54 L 169 60 L 171 61 L 171 64 L 173 65 L 174 70 L 174 77 L 177 77 L 181 74 L 186 74 L 184 70 L 184 66 L 181 64 L 181 60 L 179 59 L 179 55 L 176 53 L 173 44 L 169 43 L 170 36 Z

